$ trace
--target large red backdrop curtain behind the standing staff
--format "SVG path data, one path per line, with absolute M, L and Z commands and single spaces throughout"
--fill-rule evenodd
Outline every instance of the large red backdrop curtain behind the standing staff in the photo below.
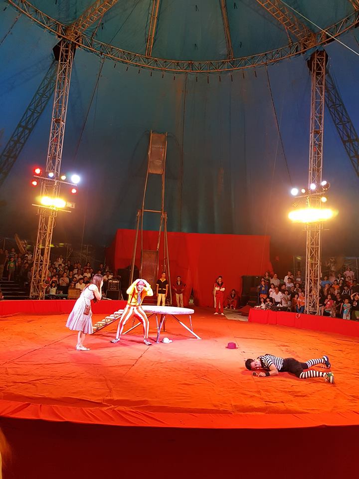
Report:
M 114 271 L 131 264 L 135 233 L 135 230 L 117 230 L 106 255 L 106 261 Z M 157 241 L 158 232 L 144 232 L 144 249 L 156 249 Z M 234 288 L 240 294 L 242 275 L 261 275 L 272 269 L 269 243 L 269 236 L 168 233 L 171 282 L 180 275 L 186 283 L 184 305 L 188 304 L 193 289 L 196 305 L 213 306 L 213 284 L 219 274 L 223 276 L 227 293 Z M 138 266 L 140 251 L 138 244 Z M 160 246 L 160 268 L 162 264 L 163 244 Z

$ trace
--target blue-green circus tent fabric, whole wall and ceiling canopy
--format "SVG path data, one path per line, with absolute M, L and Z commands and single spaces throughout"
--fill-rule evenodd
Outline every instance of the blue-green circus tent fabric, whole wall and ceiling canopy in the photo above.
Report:
M 92 2 L 32 1 L 66 24 Z M 151 3 L 119 0 L 104 15 L 96 37 L 144 53 Z M 323 27 L 353 11 L 347 0 L 287 3 Z M 283 27 L 257 1 L 227 0 L 227 10 L 236 56 L 288 44 Z M 0 20 L 2 151 L 47 71 L 58 39 L 18 15 L 6 0 L 0 0 Z M 358 51 L 356 35 L 352 29 L 340 38 Z M 358 56 L 336 41 L 326 50 L 328 67 L 359 131 Z M 226 51 L 219 0 L 161 1 L 153 55 L 205 60 L 225 58 Z M 32 167 L 45 164 L 51 109 L 50 101 L 0 189 L 2 235 L 17 232 L 21 238 L 35 238 L 37 218 L 31 207 L 35 190 L 29 183 Z M 140 69 L 79 48 L 62 170 L 76 170 L 83 180 L 76 209 L 57 218 L 54 240 L 109 244 L 118 228 L 135 227 L 149 131 L 155 130 L 168 132 L 165 206 L 170 231 L 268 234 L 285 243 L 297 241 L 292 247 L 299 245 L 302 251 L 305 233 L 286 220 L 291 181 L 285 160 L 292 183 L 306 185 L 309 118 L 310 75 L 304 55 L 268 67 L 197 75 Z M 324 233 L 325 247 L 327 240 L 334 240 L 335 251 L 347 248 L 348 255 L 359 254 L 355 236 L 347 235 L 344 244 L 342 235 L 359 228 L 354 208 L 359 201 L 358 178 L 328 112 L 324 175 L 332 184 L 331 206 L 340 211 L 331 231 Z M 155 201 L 158 185 L 149 188 Z M 146 226 L 156 229 L 151 221 Z

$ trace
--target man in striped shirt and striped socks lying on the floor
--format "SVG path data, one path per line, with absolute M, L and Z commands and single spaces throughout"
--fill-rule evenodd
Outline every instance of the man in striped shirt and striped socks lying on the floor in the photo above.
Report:
M 264 356 L 258 356 L 257 359 L 247 359 L 245 366 L 249 371 L 255 369 L 264 369 L 265 372 L 253 373 L 253 376 L 259 376 L 260 378 L 266 376 L 276 376 L 278 373 L 292 373 L 300 379 L 308 378 L 324 378 L 329 383 L 334 383 L 334 374 L 332 372 L 303 371 L 309 369 L 316 364 L 324 364 L 327 369 L 331 367 L 328 356 L 323 356 L 319 359 L 309 359 L 305 363 L 301 363 L 294 358 L 279 358 L 272 354 L 264 354 Z

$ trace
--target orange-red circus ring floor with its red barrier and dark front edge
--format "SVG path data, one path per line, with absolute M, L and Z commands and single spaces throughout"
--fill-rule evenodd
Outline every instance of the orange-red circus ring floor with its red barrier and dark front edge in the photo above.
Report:
M 82 352 L 64 327 L 71 301 L 42 302 L 54 314 L 30 302 L 31 314 L 10 314 L 9 303 L 0 318 L 4 479 L 358 475 L 357 323 L 319 332 L 262 311 L 243 322 L 195 308 L 201 340 L 169 318 L 170 344 L 145 346 L 141 327 L 111 344 L 116 323 L 88 336 Z M 98 305 L 93 322 L 114 305 Z M 244 359 L 267 352 L 326 353 L 336 384 L 253 377 Z

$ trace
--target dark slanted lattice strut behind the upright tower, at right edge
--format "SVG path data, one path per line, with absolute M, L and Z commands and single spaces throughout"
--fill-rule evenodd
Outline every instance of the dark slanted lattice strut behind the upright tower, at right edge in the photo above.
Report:
M 344 105 L 342 96 L 328 70 L 326 72 L 326 104 L 349 159 L 359 176 L 358 133 Z

